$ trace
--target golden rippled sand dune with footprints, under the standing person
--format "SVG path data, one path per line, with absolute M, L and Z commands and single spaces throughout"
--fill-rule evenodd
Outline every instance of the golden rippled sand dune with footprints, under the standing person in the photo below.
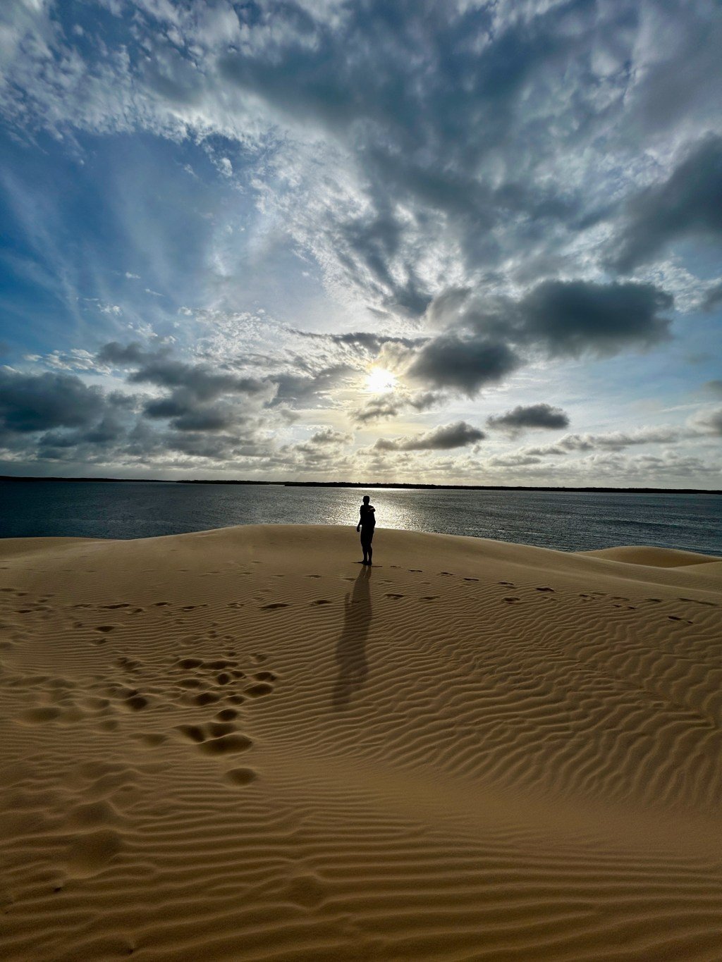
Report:
M 722 560 L 0 542 L 0 953 L 722 958 Z

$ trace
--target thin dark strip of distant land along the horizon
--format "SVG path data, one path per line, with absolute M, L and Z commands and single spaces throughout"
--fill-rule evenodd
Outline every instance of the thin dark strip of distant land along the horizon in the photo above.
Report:
M 400 484 L 396 482 L 364 481 L 245 481 L 206 478 L 88 478 L 36 477 L 0 474 L 0 481 L 95 481 L 101 484 L 229 484 L 266 485 L 277 488 L 390 488 L 399 491 L 548 491 L 580 492 L 581 494 L 722 494 L 718 489 L 706 488 L 603 488 L 562 487 L 551 485 L 485 485 L 485 484 Z

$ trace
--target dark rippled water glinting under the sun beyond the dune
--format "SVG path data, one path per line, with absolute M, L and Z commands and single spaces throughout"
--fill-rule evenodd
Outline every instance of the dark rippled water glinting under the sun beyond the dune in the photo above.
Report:
M 0 481 L 0 537 L 152 538 L 231 524 L 356 524 L 362 489 Z M 656 544 L 722 555 L 722 496 L 369 491 L 384 527 L 565 551 Z M 379 544 L 380 547 L 380 544 Z

